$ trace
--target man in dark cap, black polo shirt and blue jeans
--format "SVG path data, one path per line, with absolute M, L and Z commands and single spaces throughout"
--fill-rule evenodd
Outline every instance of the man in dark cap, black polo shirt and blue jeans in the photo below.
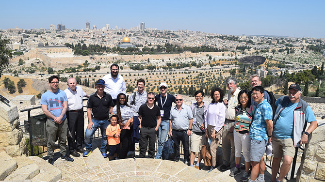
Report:
M 88 116 L 88 126 L 85 132 L 85 146 L 86 152 L 83 152 L 82 156 L 87 157 L 92 152 L 92 139 L 91 137 L 95 131 L 100 128 L 101 132 L 101 147 L 100 152 L 104 158 L 107 157 L 106 154 L 106 128 L 110 124 L 108 118 L 110 113 L 113 111 L 113 100 L 109 93 L 104 91 L 105 81 L 103 79 L 97 80 L 96 83 L 97 91 L 89 96 L 87 104 L 87 116 Z

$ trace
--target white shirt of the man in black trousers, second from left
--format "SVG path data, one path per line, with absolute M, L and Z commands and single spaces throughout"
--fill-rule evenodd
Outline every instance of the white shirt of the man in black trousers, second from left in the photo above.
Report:
M 76 91 L 71 91 L 70 88 L 65 89 L 65 94 L 68 98 L 68 110 L 80 110 L 83 107 L 82 98 L 87 94 L 81 87 L 76 87 Z

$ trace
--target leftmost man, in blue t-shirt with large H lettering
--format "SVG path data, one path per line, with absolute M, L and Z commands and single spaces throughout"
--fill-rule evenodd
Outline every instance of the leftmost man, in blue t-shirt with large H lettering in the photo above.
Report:
M 54 164 L 54 143 L 56 137 L 59 137 L 59 147 L 61 159 L 67 162 L 73 162 L 73 159 L 66 154 L 66 135 L 68 123 L 65 112 L 68 107 L 68 99 L 64 91 L 58 89 L 59 77 L 49 77 L 49 91 L 42 94 L 41 106 L 43 113 L 48 117 L 46 121 L 46 131 L 48 132 L 48 156 L 49 163 Z

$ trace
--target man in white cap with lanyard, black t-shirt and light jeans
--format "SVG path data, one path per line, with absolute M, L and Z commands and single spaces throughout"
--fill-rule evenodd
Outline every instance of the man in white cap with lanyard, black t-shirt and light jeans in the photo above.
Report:
M 172 108 L 172 104 L 175 103 L 175 97 L 174 95 L 167 93 L 167 84 L 161 83 L 159 85 L 159 90 L 161 91 L 161 94 L 158 94 L 155 96 L 155 103 L 160 108 L 160 115 L 162 117 L 162 122 L 159 125 L 159 132 L 158 132 L 158 149 L 156 158 L 162 159 L 162 149 L 165 144 L 168 130 L 169 130 L 169 113 L 170 109 Z

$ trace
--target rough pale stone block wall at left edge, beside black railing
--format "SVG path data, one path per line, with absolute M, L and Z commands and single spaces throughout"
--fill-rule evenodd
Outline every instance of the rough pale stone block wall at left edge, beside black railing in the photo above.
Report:
M 18 129 L 17 106 L 13 102 L 8 105 L 0 101 L 0 152 L 5 151 L 12 157 L 21 156 L 26 153 L 26 139 Z

